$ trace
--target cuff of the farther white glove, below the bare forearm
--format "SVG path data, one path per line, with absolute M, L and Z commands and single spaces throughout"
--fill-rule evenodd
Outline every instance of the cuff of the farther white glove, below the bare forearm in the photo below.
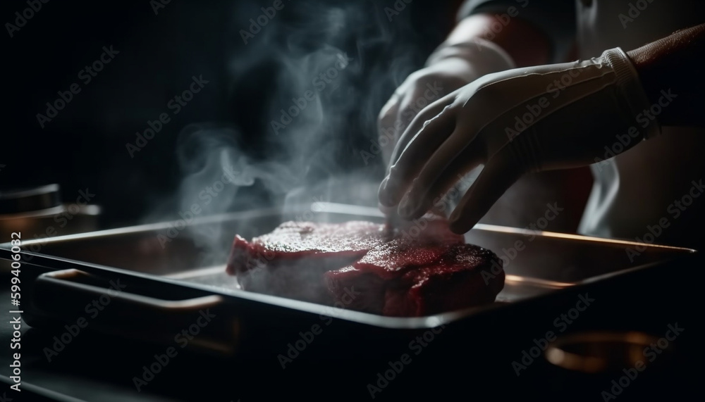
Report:
M 516 68 L 509 54 L 497 44 L 486 39 L 473 38 L 468 42 L 442 44 L 426 61 L 426 65 L 437 63 L 444 58 L 458 57 L 475 62 L 480 75 L 496 73 Z

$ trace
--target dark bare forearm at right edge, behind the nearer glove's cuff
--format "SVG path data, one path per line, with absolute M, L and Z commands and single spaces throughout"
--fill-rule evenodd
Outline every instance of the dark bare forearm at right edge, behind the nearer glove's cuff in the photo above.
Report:
M 658 103 L 661 91 L 677 99 L 663 108 L 661 125 L 705 127 L 705 24 L 680 30 L 668 37 L 627 52 L 639 73 L 646 96 Z

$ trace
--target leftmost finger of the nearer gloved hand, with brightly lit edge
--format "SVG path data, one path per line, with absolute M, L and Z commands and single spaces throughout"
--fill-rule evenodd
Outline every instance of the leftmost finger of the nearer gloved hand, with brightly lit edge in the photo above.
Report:
M 446 103 L 433 103 L 424 109 L 412 122 L 407 130 L 402 134 L 400 141 L 409 137 L 411 132 L 415 135 L 401 152 L 397 144 L 392 158 L 399 154 L 396 162 L 391 165 L 389 174 L 385 178 L 379 191 L 379 202 L 386 206 L 396 206 L 403 194 L 421 170 L 424 161 L 427 161 L 432 153 L 443 144 L 455 127 L 455 117 L 453 113 L 447 111 Z M 443 113 L 443 111 L 446 111 Z M 435 114 L 432 114 L 435 113 Z M 419 123 L 423 122 L 423 123 Z M 422 127 L 419 127 L 422 125 Z M 418 128 L 417 128 L 418 127 Z

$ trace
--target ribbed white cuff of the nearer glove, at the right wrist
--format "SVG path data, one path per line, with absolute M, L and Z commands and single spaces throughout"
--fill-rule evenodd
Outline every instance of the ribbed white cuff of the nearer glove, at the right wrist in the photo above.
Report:
M 621 48 L 616 47 L 604 51 L 601 58 L 606 60 L 615 72 L 617 87 L 632 115 L 631 120 L 635 120 L 636 116 L 642 114 L 644 110 L 649 110 L 651 103 L 646 96 L 641 80 L 639 80 L 639 74 L 627 54 Z M 661 125 L 656 119 L 651 120 L 649 125 L 642 127 L 642 129 L 646 130 L 644 139 L 661 134 Z

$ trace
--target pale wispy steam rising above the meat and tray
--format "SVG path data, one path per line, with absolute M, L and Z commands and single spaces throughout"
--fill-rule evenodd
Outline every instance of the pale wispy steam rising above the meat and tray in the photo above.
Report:
M 267 119 L 252 122 L 250 116 L 238 115 L 238 127 L 208 123 L 180 133 L 177 154 L 183 180 L 172 205 L 181 217 L 199 208 L 197 215 L 203 217 L 267 203 L 284 211 L 320 201 L 376 206 L 381 155 L 379 170 L 372 170 L 363 165 L 360 151 L 376 145 L 379 108 L 411 72 L 414 58 L 422 56 L 418 49 L 394 43 L 391 32 L 407 25 L 408 15 L 398 15 L 392 26 L 381 8 L 366 1 L 285 4 L 246 45 L 238 31 L 261 12 L 234 6 L 231 39 L 237 42 L 233 46 L 245 46 L 245 53 L 228 65 L 236 89 L 233 107 L 238 113 L 238 106 L 261 105 Z M 370 48 L 379 50 L 381 63 L 367 62 Z M 242 88 L 247 90 L 240 94 Z M 367 140 L 360 142 L 355 135 Z M 253 136 L 266 152 L 245 148 L 245 139 Z M 161 208 L 148 219 L 179 218 L 173 209 L 166 216 L 163 212 Z M 235 233 L 212 227 L 193 230 L 190 237 L 207 251 L 204 263 L 223 263 L 228 252 L 223 244 Z

